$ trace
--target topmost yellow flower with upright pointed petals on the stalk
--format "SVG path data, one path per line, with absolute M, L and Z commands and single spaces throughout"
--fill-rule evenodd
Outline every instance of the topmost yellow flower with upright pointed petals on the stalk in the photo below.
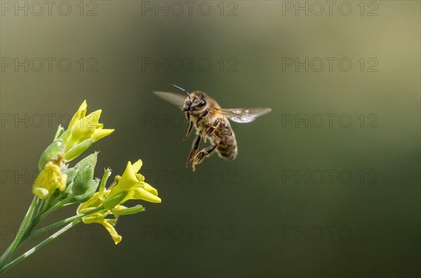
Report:
M 85 100 L 70 120 L 67 132 L 63 134 L 65 153 L 87 139 L 98 141 L 114 132 L 114 129 L 104 129 L 104 125 L 99 123 L 101 110 L 94 111 L 86 116 L 87 109 L 88 105 Z

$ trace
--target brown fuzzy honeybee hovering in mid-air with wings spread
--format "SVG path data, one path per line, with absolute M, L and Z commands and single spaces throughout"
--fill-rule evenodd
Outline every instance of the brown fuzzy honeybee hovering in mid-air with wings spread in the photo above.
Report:
M 217 151 L 221 158 L 234 160 L 238 153 L 235 134 L 229 125 L 229 120 L 236 123 L 250 123 L 255 118 L 272 111 L 270 108 L 236 108 L 222 109 L 215 99 L 208 97 L 204 92 L 187 90 L 171 84 L 173 87 L 187 93 L 187 97 L 173 92 L 154 92 L 161 99 L 179 106 L 186 113 L 185 122 L 189 121 L 189 130 L 184 139 L 187 139 L 192 133 L 193 127 L 196 129 L 197 138 L 194 141 L 192 151 L 187 158 L 186 167 L 189 167 L 190 161 L 193 160 L 192 169 L 196 171 L 198 165 L 203 158 L 210 155 L 213 151 Z M 199 143 L 201 138 L 206 143 L 209 138 L 212 146 L 203 148 L 199 153 Z M 197 153 L 197 154 L 196 154 Z

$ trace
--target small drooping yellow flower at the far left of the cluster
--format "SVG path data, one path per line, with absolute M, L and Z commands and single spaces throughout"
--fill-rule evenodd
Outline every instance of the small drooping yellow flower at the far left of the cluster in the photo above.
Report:
M 60 191 L 66 189 L 67 174 L 60 172 L 60 162 L 48 162 L 34 181 L 32 193 L 39 198 L 46 198 L 53 194 L 58 188 Z

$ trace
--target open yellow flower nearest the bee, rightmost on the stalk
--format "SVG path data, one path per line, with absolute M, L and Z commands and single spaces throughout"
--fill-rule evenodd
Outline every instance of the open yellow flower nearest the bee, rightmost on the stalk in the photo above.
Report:
M 145 200 L 147 202 L 160 203 L 158 191 L 145 183 L 145 177 L 138 174 L 142 167 L 142 160 L 138 160 L 133 165 L 129 161 L 119 183 L 117 183 L 107 197 L 105 197 L 104 207 L 112 209 L 116 204 L 123 204 L 127 200 Z

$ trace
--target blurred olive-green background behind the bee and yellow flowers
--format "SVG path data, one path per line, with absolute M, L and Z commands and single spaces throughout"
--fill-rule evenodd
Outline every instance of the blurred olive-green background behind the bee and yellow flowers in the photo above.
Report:
M 38 16 L 27 1 L 28 15 L 15 15 L 17 3 L 1 1 L 0 251 L 32 200 L 39 155 L 83 99 L 116 129 L 89 150 L 100 151 L 97 176 L 141 158 L 163 202 L 120 218 L 118 246 L 83 224 L 2 277 L 420 277 L 419 1 L 335 1 L 331 15 L 321 1 L 319 16 L 312 1 L 195 2 L 190 15 L 185 2 L 180 12 L 166 1 L 57 1 L 51 15 L 40 2 Z M 27 72 L 7 66 L 25 57 Z M 46 60 L 34 71 L 36 57 L 55 58 L 51 72 Z M 306 57 L 307 72 L 286 67 Z M 182 141 L 182 112 L 152 94 L 171 83 L 273 111 L 234 125 L 236 160 L 213 155 L 192 174 L 194 136 Z

